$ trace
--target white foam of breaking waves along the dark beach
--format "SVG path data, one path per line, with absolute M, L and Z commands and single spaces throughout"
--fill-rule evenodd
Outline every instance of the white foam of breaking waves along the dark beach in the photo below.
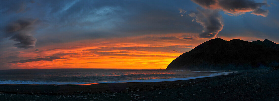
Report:
M 182 70 L 181 70 L 182 71 Z M 186 72 L 186 71 L 185 71 Z M 207 71 L 187 71 L 187 72 L 207 72 Z M 35 85 L 71 85 L 71 84 L 96 84 L 96 83 L 123 83 L 123 82 L 163 82 L 176 80 L 190 80 L 205 77 L 214 77 L 219 75 L 228 75 L 233 72 L 216 72 L 207 76 L 186 77 L 186 78 L 171 78 L 171 79 L 148 79 L 148 80 L 122 80 L 122 81 L 102 81 L 102 82 L 51 82 L 51 81 L 29 81 L 29 80 L 0 80 L 0 85 L 12 84 L 35 84 Z M 237 72 L 234 72 L 237 73 Z

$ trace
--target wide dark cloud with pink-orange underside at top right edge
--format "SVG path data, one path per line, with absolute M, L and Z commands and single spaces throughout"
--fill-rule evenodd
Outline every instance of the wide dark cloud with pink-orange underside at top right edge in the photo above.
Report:
M 257 16 L 266 17 L 268 10 L 261 9 L 262 6 L 269 6 L 267 3 L 256 3 L 253 0 L 192 0 L 205 9 L 220 9 L 230 16 L 238 16 L 246 12 Z

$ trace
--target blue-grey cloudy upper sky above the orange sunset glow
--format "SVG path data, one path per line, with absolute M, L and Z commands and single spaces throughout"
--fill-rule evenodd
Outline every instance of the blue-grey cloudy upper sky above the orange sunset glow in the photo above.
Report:
M 74 46 L 67 46 L 68 44 L 81 41 L 84 41 L 83 44 L 90 43 L 91 46 L 88 47 L 112 39 L 117 39 L 116 44 L 123 41 L 148 43 L 151 46 L 156 42 L 166 42 L 166 45 L 173 46 L 163 48 L 160 46 L 160 48 L 172 47 L 173 49 L 169 51 L 175 50 L 172 52 L 179 52 L 178 55 L 215 37 L 227 40 L 242 38 L 247 41 L 269 39 L 278 44 L 278 0 L 236 0 L 235 2 L 229 0 L 1 1 L 0 62 L 6 66 L 3 68 L 11 68 L 15 65 L 8 64 L 11 61 L 50 59 L 49 55 L 39 53 L 38 50 L 48 50 L 46 47 L 69 49 Z M 243 9 L 244 12 L 239 12 Z M 190 13 L 195 13 L 195 16 L 190 16 Z M 140 39 L 128 41 L 131 37 L 140 37 Z M 94 45 L 91 42 L 94 42 Z M 185 45 L 177 42 L 183 42 Z M 62 47 L 61 44 L 67 45 Z M 145 49 L 145 51 L 163 51 L 160 48 L 150 47 L 150 50 Z M 35 54 L 35 52 L 37 55 L 34 56 L 22 55 Z M 61 53 L 62 50 L 59 52 Z M 62 57 L 50 60 L 56 59 Z

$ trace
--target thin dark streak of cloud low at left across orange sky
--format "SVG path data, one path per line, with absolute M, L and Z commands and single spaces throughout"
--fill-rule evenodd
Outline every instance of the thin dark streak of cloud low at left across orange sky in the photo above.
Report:
M 63 57 L 48 57 L 48 58 L 36 58 L 36 59 L 27 59 L 27 60 L 19 60 L 19 61 L 11 61 L 8 63 L 23 63 L 23 62 L 35 62 L 35 61 L 51 61 L 56 59 L 67 59 Z

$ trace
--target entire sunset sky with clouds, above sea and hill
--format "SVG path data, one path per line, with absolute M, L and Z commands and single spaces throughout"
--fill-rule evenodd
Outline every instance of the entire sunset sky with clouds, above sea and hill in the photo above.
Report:
M 1 0 L 0 69 L 165 69 L 199 44 L 279 44 L 279 0 Z

